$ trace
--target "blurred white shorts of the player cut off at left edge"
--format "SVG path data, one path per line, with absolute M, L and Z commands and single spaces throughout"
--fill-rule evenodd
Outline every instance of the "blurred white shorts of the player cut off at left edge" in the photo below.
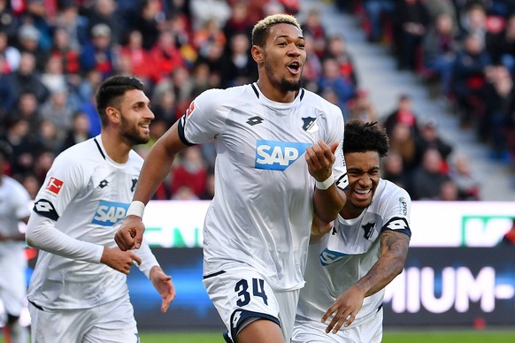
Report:
M 25 259 L 2 256 L 0 260 L 0 299 L 11 316 L 20 315 L 27 297 L 26 266 Z

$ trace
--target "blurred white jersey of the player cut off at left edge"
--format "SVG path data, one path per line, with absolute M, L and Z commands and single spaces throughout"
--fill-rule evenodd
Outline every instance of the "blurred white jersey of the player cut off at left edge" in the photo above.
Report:
M 30 195 L 15 179 L 4 175 L 0 180 L 0 234 L 19 234 L 19 222 L 30 215 Z M 12 258 L 25 261 L 24 241 L 0 241 L 0 261 Z

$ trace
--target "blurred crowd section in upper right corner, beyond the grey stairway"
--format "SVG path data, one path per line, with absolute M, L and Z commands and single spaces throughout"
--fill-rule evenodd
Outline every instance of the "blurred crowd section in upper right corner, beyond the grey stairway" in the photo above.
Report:
M 438 83 L 461 128 L 491 157 L 515 164 L 515 2 L 360 0 L 343 2 L 369 41 L 386 44 L 400 70 Z

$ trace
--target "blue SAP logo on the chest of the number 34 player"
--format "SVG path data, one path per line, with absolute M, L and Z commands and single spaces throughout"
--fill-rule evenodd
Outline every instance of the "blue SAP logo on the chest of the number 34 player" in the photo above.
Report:
M 284 171 L 299 156 L 304 154 L 307 147 L 311 147 L 311 143 L 258 140 L 256 141 L 256 163 L 254 167 Z

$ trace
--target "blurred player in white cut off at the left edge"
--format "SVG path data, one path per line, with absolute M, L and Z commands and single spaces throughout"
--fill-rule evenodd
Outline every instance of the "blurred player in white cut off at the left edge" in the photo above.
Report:
M 27 224 L 30 195 L 18 181 L 4 174 L 11 156 L 12 147 L 0 141 L 0 299 L 7 313 L 8 341 L 27 343 L 28 328 L 19 324 L 27 295 L 25 233 L 19 231 L 19 225 Z

